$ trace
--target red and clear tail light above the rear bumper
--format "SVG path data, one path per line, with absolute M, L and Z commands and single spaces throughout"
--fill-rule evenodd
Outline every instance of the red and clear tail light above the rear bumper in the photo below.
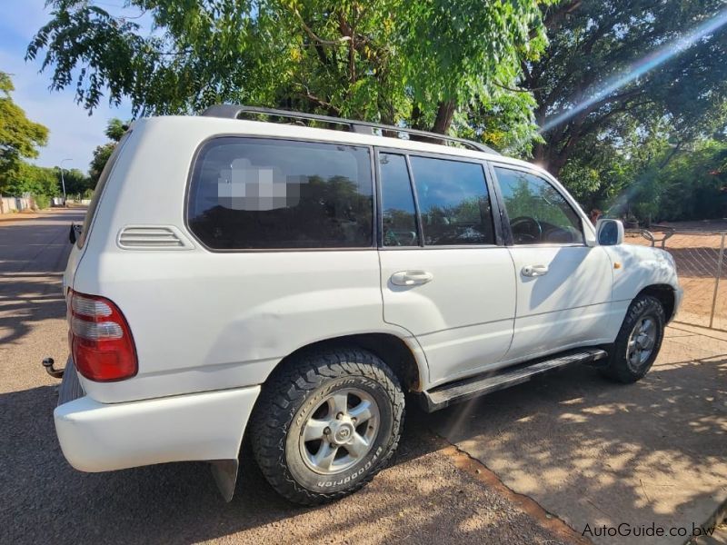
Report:
M 138 370 L 129 324 L 114 302 L 70 290 L 68 341 L 75 368 L 91 381 L 123 381 Z

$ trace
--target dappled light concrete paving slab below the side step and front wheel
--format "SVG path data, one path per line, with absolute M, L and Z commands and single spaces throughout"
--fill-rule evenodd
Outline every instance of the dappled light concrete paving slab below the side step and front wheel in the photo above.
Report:
M 630 385 L 573 368 L 430 424 L 579 532 L 691 528 L 727 497 L 727 354 L 656 366 Z

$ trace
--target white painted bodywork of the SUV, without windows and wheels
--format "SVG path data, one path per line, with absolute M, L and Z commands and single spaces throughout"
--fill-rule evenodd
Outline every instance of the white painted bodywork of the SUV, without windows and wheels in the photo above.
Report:
M 85 397 L 55 410 L 65 457 L 82 471 L 236 458 L 260 385 L 288 354 L 360 333 L 403 340 L 419 390 L 567 348 L 612 342 L 643 288 L 672 286 L 671 256 L 602 247 L 575 205 L 586 243 L 468 248 L 213 253 L 184 222 L 195 151 L 217 135 L 255 135 L 447 154 L 542 170 L 514 159 L 414 141 L 300 126 L 159 117 L 134 123 L 64 285 L 124 312 L 139 371 L 81 377 Z M 128 226 L 165 226 L 183 246 L 124 248 Z M 620 263 L 621 268 L 614 269 Z M 526 278 L 528 265 L 546 275 Z M 395 286 L 394 272 L 431 282 Z M 678 297 L 677 297 L 678 303 Z

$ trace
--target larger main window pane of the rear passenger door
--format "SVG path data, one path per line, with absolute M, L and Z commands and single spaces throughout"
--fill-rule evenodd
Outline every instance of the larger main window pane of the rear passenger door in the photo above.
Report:
M 424 244 L 494 244 L 493 211 L 483 167 L 411 157 Z

